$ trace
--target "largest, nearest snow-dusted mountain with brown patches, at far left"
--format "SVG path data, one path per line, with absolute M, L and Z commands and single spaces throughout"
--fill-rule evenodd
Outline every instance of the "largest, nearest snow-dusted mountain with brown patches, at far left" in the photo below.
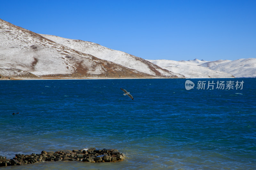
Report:
M 12 77 L 177 77 L 151 64 L 140 72 L 51 41 L 0 19 L 0 74 Z M 129 56 L 128 54 L 126 54 Z M 138 59 L 140 60 L 140 59 Z M 137 62 L 134 59 L 133 64 Z

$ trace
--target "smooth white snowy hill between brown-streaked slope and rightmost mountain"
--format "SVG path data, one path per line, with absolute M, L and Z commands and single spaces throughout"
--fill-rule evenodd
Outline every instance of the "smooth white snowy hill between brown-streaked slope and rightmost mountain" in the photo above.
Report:
M 170 70 L 184 75 L 186 78 L 233 78 L 229 73 L 211 70 L 200 66 L 200 64 L 208 63 L 204 60 L 188 60 L 188 61 L 173 61 L 173 60 L 148 60 L 164 69 Z

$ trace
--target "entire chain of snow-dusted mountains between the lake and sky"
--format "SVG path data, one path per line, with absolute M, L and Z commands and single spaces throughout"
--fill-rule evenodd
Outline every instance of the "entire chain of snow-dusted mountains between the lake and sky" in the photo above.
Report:
M 3 78 L 233 78 L 255 77 L 256 58 L 145 60 L 99 44 L 37 34 L 0 19 Z

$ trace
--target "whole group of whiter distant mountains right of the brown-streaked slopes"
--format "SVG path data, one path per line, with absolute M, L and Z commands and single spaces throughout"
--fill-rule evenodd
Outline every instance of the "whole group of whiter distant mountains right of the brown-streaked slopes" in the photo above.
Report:
M 241 78 L 256 76 L 256 58 L 238 60 L 148 60 L 164 69 L 187 78 Z

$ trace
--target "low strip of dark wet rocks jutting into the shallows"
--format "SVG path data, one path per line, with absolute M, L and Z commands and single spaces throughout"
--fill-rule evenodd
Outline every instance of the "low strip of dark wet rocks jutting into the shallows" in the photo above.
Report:
M 16 154 L 13 159 L 0 156 L 0 166 L 26 165 L 43 161 L 84 161 L 84 162 L 116 162 L 124 159 L 124 154 L 116 149 L 95 148 L 82 150 L 62 150 L 57 152 L 42 151 L 41 154 Z

